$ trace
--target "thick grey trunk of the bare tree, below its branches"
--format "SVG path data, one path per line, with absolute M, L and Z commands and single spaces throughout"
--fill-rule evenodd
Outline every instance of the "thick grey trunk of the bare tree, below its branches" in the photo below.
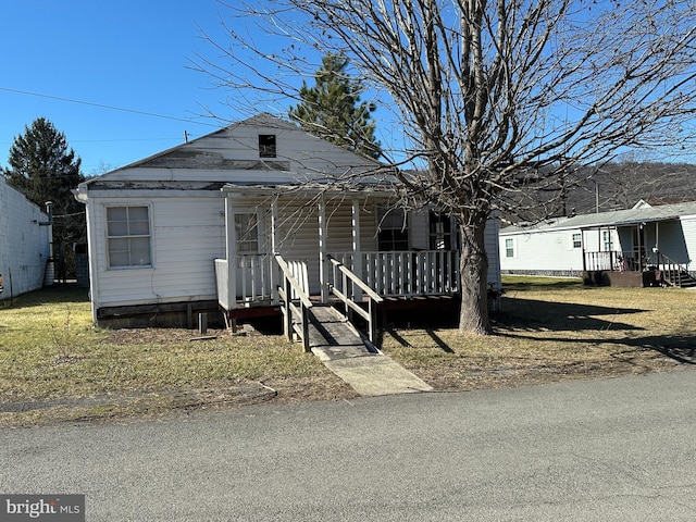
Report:
M 488 256 L 485 248 L 486 221 L 459 226 L 461 237 L 461 311 L 459 331 L 490 334 L 488 322 Z

